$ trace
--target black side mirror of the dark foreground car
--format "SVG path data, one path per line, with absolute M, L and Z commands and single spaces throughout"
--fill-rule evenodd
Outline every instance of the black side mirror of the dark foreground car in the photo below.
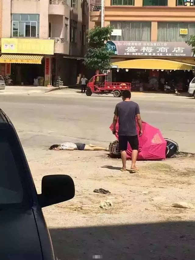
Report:
M 43 208 L 62 201 L 70 200 L 75 195 L 73 179 L 68 175 L 47 175 L 42 178 L 39 205 Z

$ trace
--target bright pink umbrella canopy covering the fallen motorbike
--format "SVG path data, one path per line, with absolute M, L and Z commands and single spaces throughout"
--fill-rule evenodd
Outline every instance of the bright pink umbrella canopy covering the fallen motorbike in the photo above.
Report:
M 137 122 L 136 122 L 137 124 Z M 167 142 L 163 138 L 161 131 L 154 126 L 142 121 L 143 135 L 139 137 L 139 126 L 137 124 L 137 134 L 139 139 L 139 151 L 137 160 L 163 160 Z M 113 125 L 110 126 L 113 129 Z M 118 140 L 119 124 L 116 124 L 116 138 Z M 131 159 L 132 149 L 128 143 L 127 159 Z

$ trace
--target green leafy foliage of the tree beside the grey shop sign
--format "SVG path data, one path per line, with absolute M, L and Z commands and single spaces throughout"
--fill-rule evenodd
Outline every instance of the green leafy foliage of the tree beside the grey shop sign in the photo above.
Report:
M 112 51 L 108 51 L 106 41 L 112 33 L 112 27 L 96 26 L 88 32 L 88 47 L 84 57 L 84 65 L 89 69 L 103 70 L 111 68 L 110 55 Z

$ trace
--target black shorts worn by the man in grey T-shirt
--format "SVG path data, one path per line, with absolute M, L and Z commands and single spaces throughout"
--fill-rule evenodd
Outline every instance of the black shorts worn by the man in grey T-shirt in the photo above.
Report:
M 132 150 L 138 151 L 139 141 L 137 135 L 134 136 L 119 135 L 119 151 L 126 151 L 128 142 Z

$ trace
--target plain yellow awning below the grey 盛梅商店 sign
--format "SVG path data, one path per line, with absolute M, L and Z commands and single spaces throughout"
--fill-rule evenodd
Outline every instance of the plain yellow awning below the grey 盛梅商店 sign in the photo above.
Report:
M 119 69 L 193 69 L 193 64 L 170 61 L 165 59 L 131 59 L 113 62 Z

